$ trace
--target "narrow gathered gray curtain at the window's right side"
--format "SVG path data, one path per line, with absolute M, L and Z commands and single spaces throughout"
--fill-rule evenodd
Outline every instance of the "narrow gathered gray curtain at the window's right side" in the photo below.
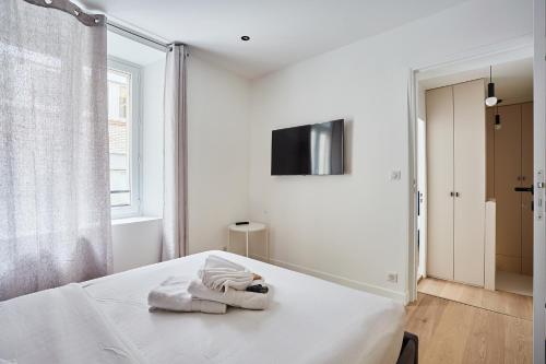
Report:
M 173 45 L 165 64 L 165 155 L 162 260 L 188 250 L 186 47 Z

